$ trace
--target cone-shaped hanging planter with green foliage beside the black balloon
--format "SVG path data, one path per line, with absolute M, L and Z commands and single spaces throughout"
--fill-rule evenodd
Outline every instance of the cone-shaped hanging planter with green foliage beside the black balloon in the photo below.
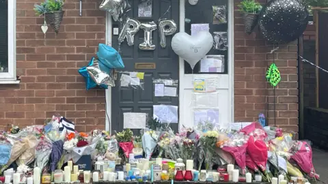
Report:
M 258 23 L 258 13 L 261 11 L 262 5 L 255 0 L 243 0 L 238 7 L 243 14 L 245 33 L 251 34 Z

